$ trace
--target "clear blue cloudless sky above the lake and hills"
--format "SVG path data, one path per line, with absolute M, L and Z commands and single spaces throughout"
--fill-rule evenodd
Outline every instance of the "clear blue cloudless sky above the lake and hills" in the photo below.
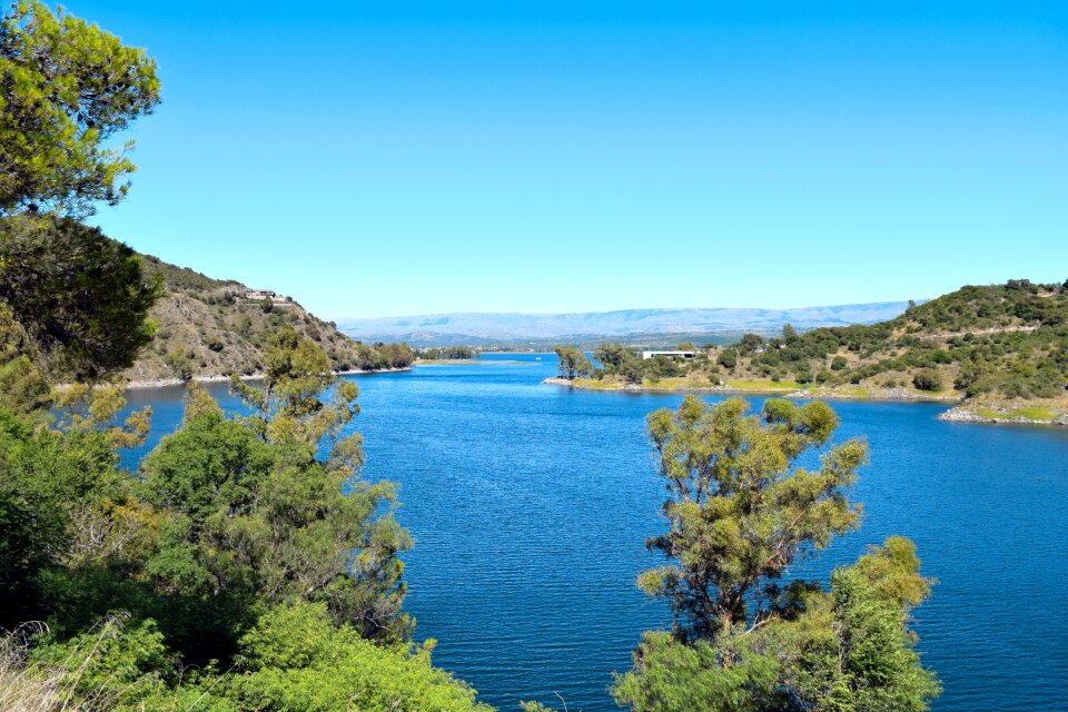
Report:
M 323 316 L 1068 278 L 1066 2 L 67 7 L 164 85 L 98 224 Z

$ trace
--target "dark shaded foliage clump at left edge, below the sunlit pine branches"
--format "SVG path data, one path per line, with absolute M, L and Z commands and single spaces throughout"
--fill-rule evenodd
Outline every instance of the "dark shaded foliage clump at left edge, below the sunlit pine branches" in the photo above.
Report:
M 99 229 L 51 217 L 0 219 L 0 301 L 52 370 L 99 378 L 151 338 L 159 286 L 134 250 Z

